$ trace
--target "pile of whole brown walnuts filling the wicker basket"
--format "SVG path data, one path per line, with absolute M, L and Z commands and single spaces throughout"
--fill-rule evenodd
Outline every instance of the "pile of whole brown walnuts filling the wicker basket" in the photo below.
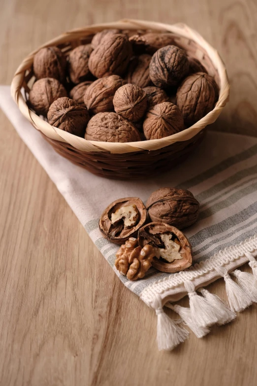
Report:
M 87 140 L 161 139 L 193 125 L 218 99 L 214 78 L 169 33 L 128 37 L 103 30 L 64 56 L 34 56 L 29 104 L 37 114 Z

